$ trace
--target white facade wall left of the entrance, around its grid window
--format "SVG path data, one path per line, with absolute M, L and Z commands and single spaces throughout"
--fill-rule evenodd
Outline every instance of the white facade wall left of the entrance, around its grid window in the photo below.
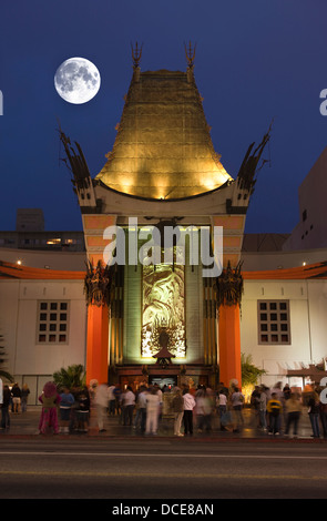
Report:
M 69 302 L 68 343 L 38 344 L 40 300 Z M 86 304 L 83 280 L 0 280 L 0 331 L 9 356 L 3 369 L 13 375 L 19 384 L 27 381 L 34 394 L 42 390 L 38 380 L 48 380 L 62 367 L 73 364 L 85 366 Z

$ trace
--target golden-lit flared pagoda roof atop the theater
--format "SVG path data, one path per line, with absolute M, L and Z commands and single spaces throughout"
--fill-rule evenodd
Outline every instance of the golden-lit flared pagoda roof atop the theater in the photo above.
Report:
M 136 197 L 180 200 L 233 181 L 214 150 L 193 70 L 134 69 L 106 157 L 95 180 Z

